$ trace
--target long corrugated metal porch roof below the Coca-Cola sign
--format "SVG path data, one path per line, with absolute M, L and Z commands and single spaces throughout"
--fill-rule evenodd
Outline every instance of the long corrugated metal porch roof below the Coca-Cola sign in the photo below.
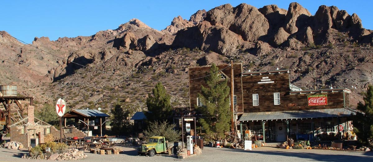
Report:
M 244 113 L 239 121 L 249 120 L 276 120 L 276 119 L 304 119 L 323 117 L 347 117 L 356 114 L 345 108 L 331 108 L 322 110 L 296 110 L 296 111 L 270 111 L 257 113 Z

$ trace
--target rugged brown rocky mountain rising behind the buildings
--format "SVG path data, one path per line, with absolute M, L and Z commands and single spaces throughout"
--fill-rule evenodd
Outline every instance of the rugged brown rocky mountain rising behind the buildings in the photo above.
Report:
M 175 17 L 162 31 L 132 19 L 92 36 L 30 45 L 2 31 L 0 84 L 18 85 L 40 105 L 64 97 L 73 108 L 109 110 L 119 101 L 143 110 L 162 82 L 173 107 L 188 107 L 188 67 L 233 60 L 245 71 L 289 69 L 291 83 L 303 89 L 314 80 L 318 89 L 350 88 L 355 107 L 372 84 L 372 33 L 356 14 L 320 6 L 312 15 L 298 3 L 288 10 L 224 4 L 189 20 Z

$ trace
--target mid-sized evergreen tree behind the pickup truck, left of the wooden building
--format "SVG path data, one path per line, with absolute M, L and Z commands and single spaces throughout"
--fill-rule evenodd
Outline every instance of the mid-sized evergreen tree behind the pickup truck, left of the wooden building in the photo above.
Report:
M 157 83 L 153 88 L 153 94 L 149 94 L 146 100 L 148 113 L 146 117 L 150 122 L 165 121 L 172 117 L 170 95 L 166 93 L 162 83 Z

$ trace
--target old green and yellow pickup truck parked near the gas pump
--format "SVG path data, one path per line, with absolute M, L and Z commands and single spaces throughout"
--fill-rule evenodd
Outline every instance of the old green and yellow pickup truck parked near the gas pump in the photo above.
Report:
M 138 155 L 154 156 L 156 153 L 169 153 L 171 154 L 171 149 L 173 144 L 168 143 L 163 136 L 152 136 L 149 138 L 147 144 L 143 144 L 138 147 Z

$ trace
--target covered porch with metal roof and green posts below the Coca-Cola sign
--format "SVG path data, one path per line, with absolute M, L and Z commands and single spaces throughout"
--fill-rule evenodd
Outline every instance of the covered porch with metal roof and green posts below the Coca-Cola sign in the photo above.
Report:
M 265 142 L 334 140 L 353 134 L 347 108 L 244 113 L 239 117 L 241 138 L 256 136 Z

